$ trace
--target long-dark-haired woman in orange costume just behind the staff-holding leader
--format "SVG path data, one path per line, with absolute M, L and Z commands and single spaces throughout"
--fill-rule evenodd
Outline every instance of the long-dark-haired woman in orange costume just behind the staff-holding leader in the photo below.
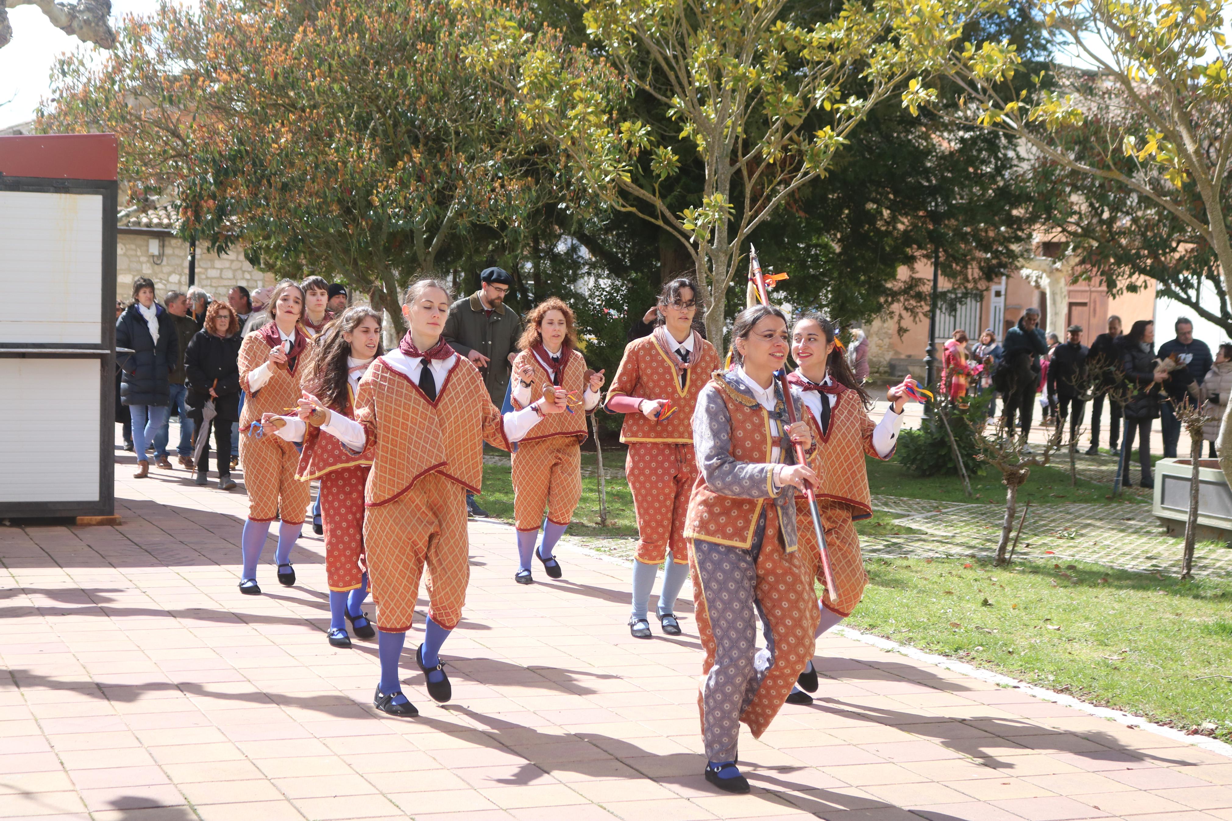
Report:
M 822 527 L 825 528 L 825 551 L 838 590 L 827 590 L 817 602 L 817 636 L 851 614 L 869 583 L 854 524 L 872 516 L 864 458 L 888 459 L 894 454 L 898 428 L 903 423 L 903 405 L 908 401 L 904 389 L 915 383 L 907 377 L 903 384 L 891 388 L 887 398 L 893 406 L 881 422 L 873 425 L 869 419 L 869 394 L 851 373 L 843 346 L 835 340 L 835 331 L 834 322 L 821 314 L 806 314 L 797 321 L 792 330 L 791 353 L 800 369 L 787 377 L 793 389 L 802 391 L 804 407 L 821 430 L 817 452 L 822 471 L 814 490 Z M 816 579 L 824 583 L 822 553 L 808 497 L 803 494 L 796 496 L 796 517 L 804 571 L 811 582 Z M 808 693 L 813 692 L 817 692 L 817 671 L 809 659 L 787 703 L 812 704 Z

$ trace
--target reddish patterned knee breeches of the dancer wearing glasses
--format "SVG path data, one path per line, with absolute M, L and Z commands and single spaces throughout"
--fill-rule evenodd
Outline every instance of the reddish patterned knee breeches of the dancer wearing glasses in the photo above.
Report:
M 673 561 L 689 563 L 685 513 L 697 480 L 697 458 L 691 444 L 631 442 L 625 476 L 637 513 L 637 560 L 662 564 L 671 550 Z

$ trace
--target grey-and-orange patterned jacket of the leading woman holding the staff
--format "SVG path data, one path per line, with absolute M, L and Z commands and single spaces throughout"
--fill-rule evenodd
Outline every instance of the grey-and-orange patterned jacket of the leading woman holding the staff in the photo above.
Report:
M 776 416 L 786 426 L 782 391 Z M 816 421 L 802 414 L 803 402 L 792 391 L 797 419 L 808 421 L 813 438 L 819 436 Z M 795 464 L 790 439 L 771 435 L 770 414 L 734 372 L 715 373 L 702 389 L 694 411 L 694 448 L 697 452 L 697 481 L 689 499 L 685 538 L 715 544 L 750 548 L 761 506 L 766 500 L 779 508 L 779 522 L 787 553 L 796 550 L 795 487 L 774 490 L 772 448 L 780 446 L 780 462 Z M 816 449 L 808 454 L 813 470 L 819 468 Z

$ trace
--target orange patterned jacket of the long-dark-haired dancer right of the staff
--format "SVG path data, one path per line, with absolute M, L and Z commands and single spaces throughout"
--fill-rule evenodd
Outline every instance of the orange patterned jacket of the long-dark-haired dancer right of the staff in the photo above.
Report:
M 824 396 L 823 396 L 824 399 Z M 877 427 L 871 419 L 860 394 L 850 388 L 843 388 L 835 395 L 830 406 L 829 430 L 817 435 L 817 451 L 822 469 L 817 478 L 818 501 L 829 500 L 850 505 L 853 519 L 866 519 L 872 516 L 872 496 L 869 492 L 869 471 L 864 457 L 891 459 L 894 452 L 882 457 L 872 446 L 872 431 Z M 812 419 L 812 411 L 808 412 Z M 821 430 L 821 425 L 818 425 Z M 808 505 L 803 494 L 796 497 L 797 506 Z

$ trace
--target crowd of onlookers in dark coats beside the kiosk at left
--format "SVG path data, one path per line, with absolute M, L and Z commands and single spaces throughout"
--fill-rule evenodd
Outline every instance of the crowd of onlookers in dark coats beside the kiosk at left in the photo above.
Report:
M 341 284 L 320 277 L 304 281 L 310 310 L 306 321 L 319 325 L 346 308 Z M 116 303 L 116 421 L 123 426 L 124 449 L 137 454 L 137 478 L 149 474 L 148 452 L 154 464 L 171 464 L 170 417 L 179 416 L 176 460 L 196 470 L 205 485 L 213 431 L 219 487 L 235 487 L 230 471 L 239 463 L 239 415 L 244 394 L 239 384 L 239 347 L 244 336 L 271 321 L 266 311 L 272 288 L 249 292 L 235 286 L 227 302 L 216 302 L 201 288 L 187 293 L 169 290 L 161 304 L 154 283 L 133 282 L 133 300 Z M 196 435 L 203 426 L 203 438 Z

